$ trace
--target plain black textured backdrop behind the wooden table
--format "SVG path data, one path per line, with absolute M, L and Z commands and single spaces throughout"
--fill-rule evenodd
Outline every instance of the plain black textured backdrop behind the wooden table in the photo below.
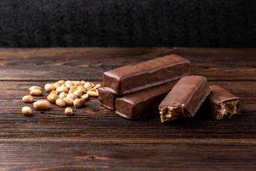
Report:
M 1 0 L 1 47 L 256 47 L 251 0 Z

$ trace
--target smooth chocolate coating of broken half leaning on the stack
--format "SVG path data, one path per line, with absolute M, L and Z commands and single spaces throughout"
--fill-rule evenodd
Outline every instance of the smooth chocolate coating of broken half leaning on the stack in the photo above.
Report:
M 185 112 L 193 117 L 209 94 L 210 88 L 204 76 L 185 76 L 170 90 L 159 108 L 184 104 Z

